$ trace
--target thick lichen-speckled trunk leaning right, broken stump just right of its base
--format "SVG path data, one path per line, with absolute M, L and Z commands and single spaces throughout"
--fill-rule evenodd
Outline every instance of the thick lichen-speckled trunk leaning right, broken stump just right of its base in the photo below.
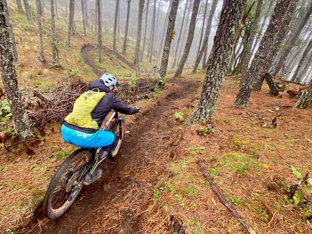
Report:
M 270 24 L 251 66 L 245 77 L 241 77 L 240 89 L 234 101 L 235 106 L 246 106 L 255 85 L 263 82 L 264 74 L 268 71 L 273 58 L 285 37 L 289 23 L 297 7 L 296 0 L 280 0 L 276 3 Z

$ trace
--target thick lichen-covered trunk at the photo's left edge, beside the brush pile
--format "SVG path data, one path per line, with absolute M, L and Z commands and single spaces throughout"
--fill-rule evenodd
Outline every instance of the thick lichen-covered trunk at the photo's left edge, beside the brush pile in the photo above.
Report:
M 22 140 L 26 140 L 32 137 L 32 131 L 30 130 L 28 116 L 24 110 L 22 94 L 18 88 L 14 62 L 15 49 L 9 33 L 10 26 L 7 20 L 10 17 L 6 13 L 6 4 L 6 0 L 0 1 L 0 70 L 5 97 L 13 116 L 14 131 Z

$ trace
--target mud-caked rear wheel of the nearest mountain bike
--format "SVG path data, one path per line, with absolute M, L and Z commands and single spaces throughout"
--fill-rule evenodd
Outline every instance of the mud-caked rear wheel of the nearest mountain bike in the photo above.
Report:
M 77 179 L 79 173 L 85 168 L 85 159 L 90 159 L 90 157 L 90 151 L 85 149 L 78 149 L 74 151 L 68 158 L 66 158 L 60 168 L 58 168 L 47 188 L 46 195 L 43 200 L 43 212 L 48 218 L 56 219 L 58 217 L 61 217 L 75 202 L 83 186 L 84 179 L 81 180 L 78 186 L 71 186 L 71 184 L 75 183 L 75 179 Z M 78 162 L 76 163 L 77 160 Z M 74 168 L 71 168 L 71 165 L 73 163 L 76 163 L 77 165 L 80 161 L 84 161 L 84 164 L 79 166 L 78 171 L 72 173 L 70 169 Z M 68 172 L 65 173 L 67 170 Z M 59 184 L 60 187 L 57 187 Z M 57 197 L 56 201 L 55 195 Z M 60 197 L 62 197 L 63 195 L 68 195 L 68 198 L 66 200 L 64 198 L 61 198 L 61 200 L 59 200 Z M 61 204 L 60 207 L 56 207 L 56 205 L 58 204 Z

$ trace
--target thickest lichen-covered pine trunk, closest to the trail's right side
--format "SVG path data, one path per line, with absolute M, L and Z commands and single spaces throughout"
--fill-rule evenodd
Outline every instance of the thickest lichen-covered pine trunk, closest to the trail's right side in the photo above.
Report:
M 224 1 L 199 101 L 188 124 L 212 118 L 234 48 L 246 0 Z

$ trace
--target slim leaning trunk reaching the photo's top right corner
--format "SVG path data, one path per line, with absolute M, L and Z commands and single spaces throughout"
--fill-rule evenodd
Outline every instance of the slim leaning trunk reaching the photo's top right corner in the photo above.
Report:
M 309 7 L 307 13 L 305 14 L 305 17 L 301 21 L 298 29 L 295 31 L 294 35 L 291 37 L 289 43 L 287 43 L 288 46 L 286 47 L 283 55 L 280 57 L 280 60 L 278 61 L 278 64 L 277 64 L 277 68 L 273 72 L 274 76 L 276 76 L 278 74 L 278 72 L 282 68 L 283 64 L 285 64 L 286 58 L 288 57 L 288 54 L 289 54 L 291 48 L 295 45 L 295 43 L 296 43 L 296 41 L 297 41 L 297 39 L 298 39 L 298 37 L 299 37 L 303 27 L 307 23 L 311 13 L 312 13 L 312 2 L 310 3 L 310 7 Z

